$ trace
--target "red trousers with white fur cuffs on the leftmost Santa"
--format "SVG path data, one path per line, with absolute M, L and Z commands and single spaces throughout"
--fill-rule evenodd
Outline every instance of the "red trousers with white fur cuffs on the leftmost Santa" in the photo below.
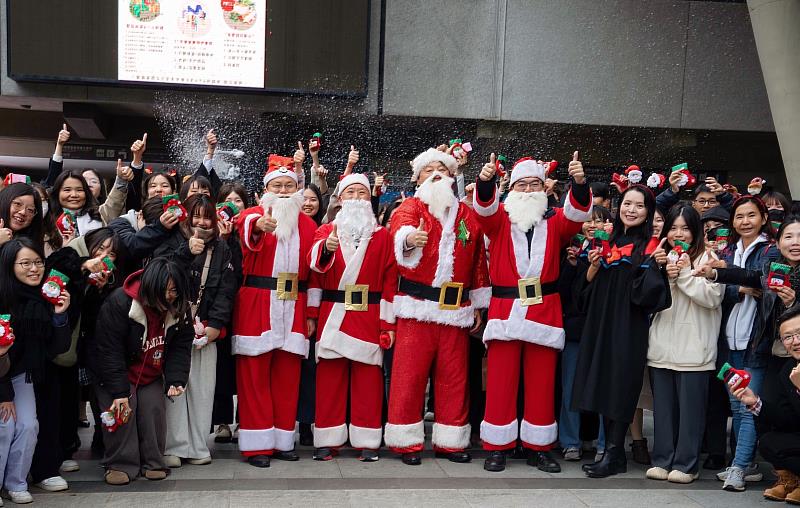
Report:
M 239 450 L 245 457 L 294 449 L 301 359 L 279 349 L 236 357 Z

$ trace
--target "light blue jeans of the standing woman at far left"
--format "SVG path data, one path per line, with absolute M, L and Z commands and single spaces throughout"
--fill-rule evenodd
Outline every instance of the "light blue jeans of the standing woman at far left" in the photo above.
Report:
M 33 384 L 25 382 L 25 373 L 11 378 L 14 386 L 16 421 L 0 418 L 0 485 L 6 490 L 28 490 L 28 471 L 36 449 L 39 421 L 36 419 L 36 395 Z

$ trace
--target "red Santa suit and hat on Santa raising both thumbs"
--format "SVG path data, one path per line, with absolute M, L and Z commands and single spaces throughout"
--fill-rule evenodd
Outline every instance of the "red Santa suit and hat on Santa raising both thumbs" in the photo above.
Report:
M 545 166 L 522 160 L 515 165 L 511 180 L 536 176 L 544 181 L 546 174 Z M 478 182 L 482 184 L 487 182 Z M 489 185 L 491 199 L 482 201 L 478 191 L 474 198 L 478 222 L 489 238 L 492 280 L 483 334 L 488 366 L 481 440 L 484 449 L 505 450 L 514 448 L 519 437 L 526 448 L 547 451 L 558 435 L 553 399 L 558 351 L 564 348 L 561 298 L 556 287 L 561 251 L 591 218 L 591 195 L 583 188 L 588 199 L 581 204 L 568 193 L 563 208 L 544 213 L 529 242 L 526 231 L 511 222 L 500 204 L 494 183 Z M 517 422 L 520 364 L 525 370 L 521 423 Z

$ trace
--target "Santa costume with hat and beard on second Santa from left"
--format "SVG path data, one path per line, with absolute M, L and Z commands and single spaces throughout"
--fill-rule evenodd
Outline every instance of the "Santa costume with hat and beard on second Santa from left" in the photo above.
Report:
M 369 196 L 371 187 L 363 174 L 344 177 L 339 194 L 351 185 L 363 185 Z M 331 236 L 338 239 L 333 252 L 326 245 Z M 319 310 L 314 458 L 330 460 L 332 451 L 349 438 L 353 448 L 362 450 L 361 460 L 377 460 L 383 435 L 380 338 L 381 332 L 394 333 L 397 264 L 391 235 L 377 225 L 370 201 L 342 201 L 336 220 L 317 230 L 309 263 L 316 272 L 309 314 Z

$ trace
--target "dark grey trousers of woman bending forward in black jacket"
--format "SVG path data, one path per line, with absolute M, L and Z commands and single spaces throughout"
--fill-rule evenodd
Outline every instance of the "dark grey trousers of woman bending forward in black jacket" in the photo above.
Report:
M 111 407 L 114 398 L 102 386 L 95 385 L 95 390 L 100 410 Z M 167 422 L 163 380 L 140 385 L 138 389 L 131 386 L 131 393 L 135 395 L 128 399 L 133 411 L 128 423 L 114 432 L 108 432 L 103 426 L 106 453 L 102 465 L 106 469 L 127 473 L 133 480 L 140 471 L 166 469 L 164 436 Z

